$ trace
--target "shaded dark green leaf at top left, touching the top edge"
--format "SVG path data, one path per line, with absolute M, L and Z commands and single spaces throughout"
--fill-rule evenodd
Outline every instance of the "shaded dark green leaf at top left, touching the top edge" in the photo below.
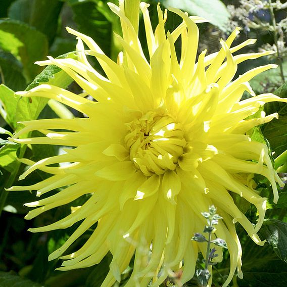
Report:
M 63 2 L 58 0 L 16 0 L 9 8 L 8 17 L 36 28 L 51 43 L 57 32 L 62 6 Z

